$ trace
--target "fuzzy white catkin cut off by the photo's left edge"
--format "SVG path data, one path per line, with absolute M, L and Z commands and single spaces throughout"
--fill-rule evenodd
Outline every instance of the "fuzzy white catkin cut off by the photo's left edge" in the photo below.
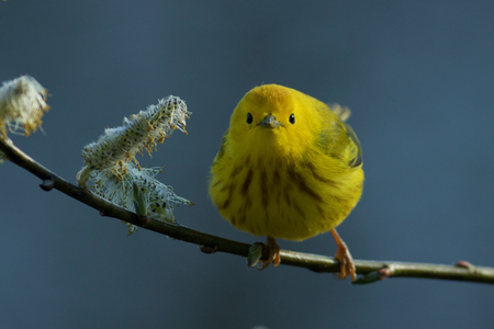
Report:
M 5 81 L 0 87 L 0 137 L 7 137 L 7 131 L 29 136 L 42 124 L 47 90 L 33 77 L 22 76 Z

